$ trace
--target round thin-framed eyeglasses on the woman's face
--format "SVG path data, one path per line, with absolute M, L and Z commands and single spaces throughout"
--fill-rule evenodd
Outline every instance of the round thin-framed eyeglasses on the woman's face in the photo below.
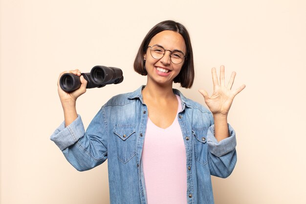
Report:
M 184 53 L 180 50 L 171 51 L 169 49 L 165 49 L 164 47 L 160 45 L 153 45 L 153 46 L 148 46 L 148 47 L 151 48 L 151 56 L 156 60 L 161 59 L 165 55 L 165 52 L 167 50 L 171 52 L 170 60 L 173 64 L 177 65 L 177 64 L 182 63 L 186 57 Z

